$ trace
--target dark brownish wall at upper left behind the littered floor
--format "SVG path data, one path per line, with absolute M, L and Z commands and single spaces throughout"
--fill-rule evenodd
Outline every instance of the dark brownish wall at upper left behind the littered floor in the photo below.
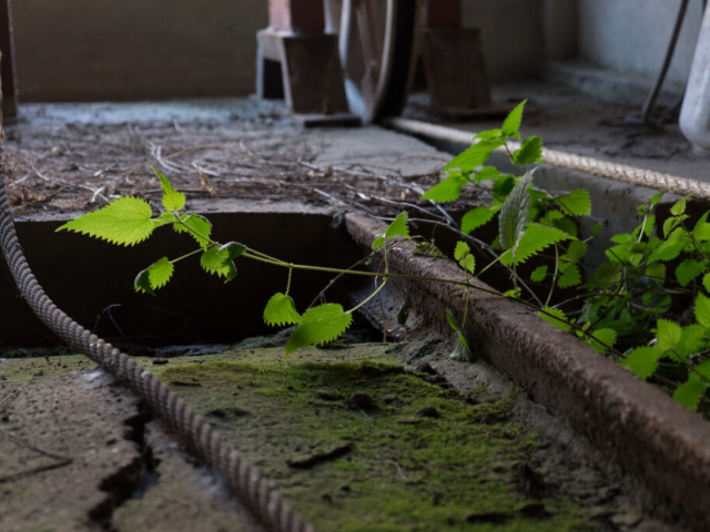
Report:
M 248 94 L 265 0 L 13 0 L 21 101 Z

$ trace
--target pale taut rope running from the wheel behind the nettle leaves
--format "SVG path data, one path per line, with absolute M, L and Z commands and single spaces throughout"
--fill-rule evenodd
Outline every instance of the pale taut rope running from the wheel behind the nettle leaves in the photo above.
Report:
M 443 125 L 429 124 L 418 120 L 409 119 L 389 119 L 387 125 L 405 133 L 415 135 L 432 136 L 443 141 L 470 144 L 475 133 L 470 131 L 455 130 Z M 515 151 L 520 147 L 517 141 L 509 141 L 508 147 Z M 499 147 L 496 153 L 507 155 L 505 147 Z M 571 153 L 559 152 L 557 150 L 542 150 L 542 163 L 561 168 L 576 170 L 587 174 L 607 177 L 608 180 L 620 181 L 633 185 L 648 186 L 661 192 L 680 194 L 684 196 L 692 194 L 693 197 L 710 200 L 710 183 L 701 181 L 688 180 L 676 175 L 662 174 L 650 170 L 637 168 L 626 164 L 610 163 L 592 157 L 582 157 Z

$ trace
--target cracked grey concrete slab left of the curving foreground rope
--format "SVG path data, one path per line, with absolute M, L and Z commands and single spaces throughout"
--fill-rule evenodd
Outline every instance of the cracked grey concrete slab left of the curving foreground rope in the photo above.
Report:
M 0 530 L 263 530 L 123 386 L 55 360 L 0 361 Z

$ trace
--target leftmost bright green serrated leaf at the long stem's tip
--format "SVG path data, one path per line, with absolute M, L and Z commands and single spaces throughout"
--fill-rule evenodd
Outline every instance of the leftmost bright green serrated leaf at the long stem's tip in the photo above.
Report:
M 148 202 L 125 196 L 99 211 L 67 222 L 57 231 L 73 231 L 111 244 L 132 246 L 146 239 L 155 227 L 162 225 L 159 221 L 151 219 L 151 214 Z

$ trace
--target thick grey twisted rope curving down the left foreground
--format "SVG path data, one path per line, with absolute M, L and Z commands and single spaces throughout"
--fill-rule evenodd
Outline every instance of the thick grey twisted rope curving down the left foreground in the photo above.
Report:
M 2 144 L 0 144 L 0 154 Z M 168 386 L 131 357 L 97 335 L 92 335 L 57 308 L 34 278 L 24 258 L 6 195 L 4 176 L 3 164 L 2 176 L 0 176 L 0 246 L 22 297 L 34 314 L 73 349 L 87 355 L 125 382 L 154 413 L 175 430 L 199 458 L 209 463 L 227 482 L 236 497 L 246 503 L 268 530 L 313 532 L 313 526 L 307 524 L 278 492 L 268 485 L 266 479 Z

